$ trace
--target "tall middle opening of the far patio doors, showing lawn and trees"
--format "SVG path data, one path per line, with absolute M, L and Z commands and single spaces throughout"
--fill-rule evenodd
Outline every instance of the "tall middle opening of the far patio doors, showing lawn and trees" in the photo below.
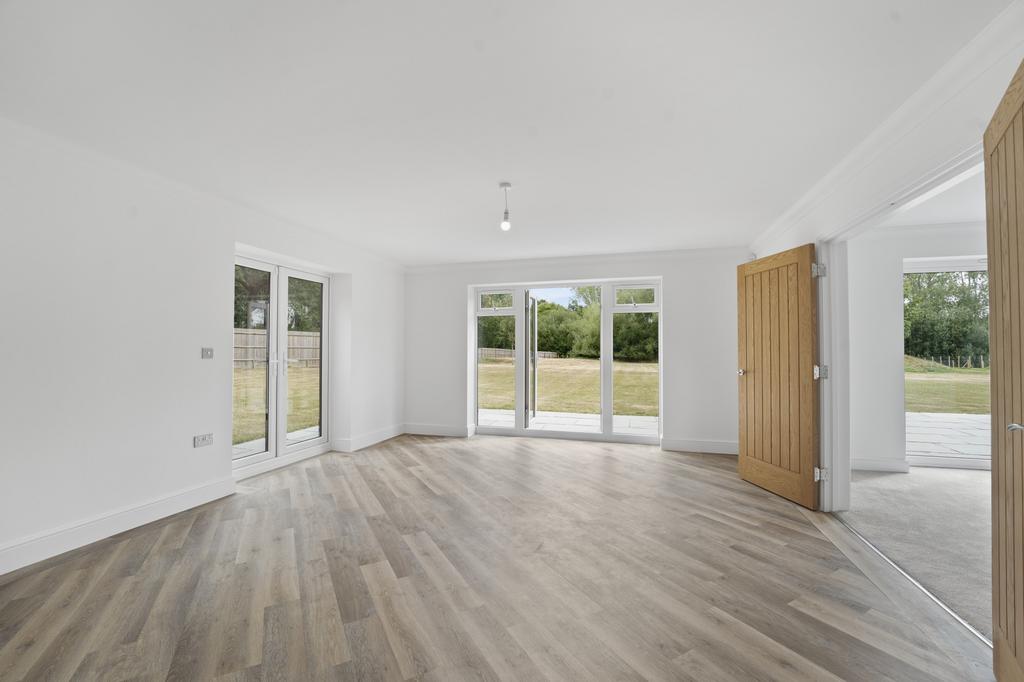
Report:
M 601 288 L 531 289 L 528 426 L 601 430 Z

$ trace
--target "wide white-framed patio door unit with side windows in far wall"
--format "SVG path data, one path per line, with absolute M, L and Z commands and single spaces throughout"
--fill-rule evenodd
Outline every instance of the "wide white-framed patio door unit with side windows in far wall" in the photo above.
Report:
M 657 440 L 657 282 L 479 289 L 474 298 L 479 432 Z

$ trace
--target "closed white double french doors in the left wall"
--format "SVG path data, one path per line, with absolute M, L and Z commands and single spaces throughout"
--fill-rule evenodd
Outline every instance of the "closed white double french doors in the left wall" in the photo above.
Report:
M 327 442 L 328 283 L 318 274 L 236 259 L 236 467 Z

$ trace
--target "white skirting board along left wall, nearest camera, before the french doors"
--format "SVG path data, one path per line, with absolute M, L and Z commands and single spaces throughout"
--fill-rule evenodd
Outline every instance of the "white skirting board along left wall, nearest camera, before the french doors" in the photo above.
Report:
M 0 547 L 0 576 L 234 493 L 228 476 Z

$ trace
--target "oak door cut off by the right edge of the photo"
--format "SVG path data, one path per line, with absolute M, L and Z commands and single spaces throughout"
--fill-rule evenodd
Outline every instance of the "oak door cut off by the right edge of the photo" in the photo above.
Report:
M 1024 63 L 985 131 L 995 675 L 1024 681 Z

